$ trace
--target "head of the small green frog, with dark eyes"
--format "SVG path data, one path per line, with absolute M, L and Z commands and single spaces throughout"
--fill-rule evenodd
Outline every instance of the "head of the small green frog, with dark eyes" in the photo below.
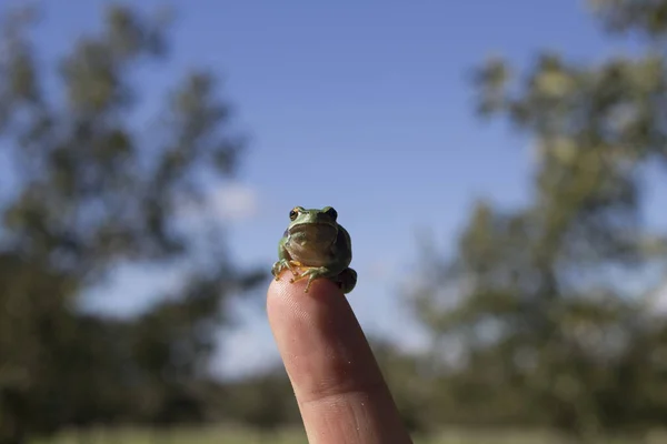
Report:
M 302 246 L 325 246 L 336 242 L 338 236 L 338 213 L 331 206 L 321 210 L 306 210 L 295 206 L 289 212 L 291 221 L 285 235 Z

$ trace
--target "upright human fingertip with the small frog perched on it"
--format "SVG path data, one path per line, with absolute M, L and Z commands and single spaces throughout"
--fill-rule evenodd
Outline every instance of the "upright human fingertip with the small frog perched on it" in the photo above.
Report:
M 411 444 L 344 293 L 329 280 L 305 286 L 271 281 L 267 312 L 308 442 Z

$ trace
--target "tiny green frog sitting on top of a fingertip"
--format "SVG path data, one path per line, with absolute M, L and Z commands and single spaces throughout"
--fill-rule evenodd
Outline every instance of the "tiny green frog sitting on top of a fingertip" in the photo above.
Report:
M 351 292 L 357 285 L 352 262 L 352 243 L 348 231 L 338 223 L 338 212 L 332 206 L 305 209 L 295 206 L 289 212 L 289 225 L 278 242 L 278 261 L 271 274 L 276 281 L 289 270 L 290 283 L 308 279 L 308 293 L 317 279 L 328 279 L 342 291 Z

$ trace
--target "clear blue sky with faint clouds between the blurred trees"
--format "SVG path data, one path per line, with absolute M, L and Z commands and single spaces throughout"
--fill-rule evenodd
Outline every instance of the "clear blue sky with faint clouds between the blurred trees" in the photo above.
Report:
M 93 30 L 104 3 L 42 1 L 36 36 L 44 54 Z M 225 79 L 251 135 L 238 182 L 212 200 L 222 218 L 238 216 L 229 221 L 232 254 L 268 268 L 289 209 L 335 206 L 359 272 L 350 302 L 367 331 L 405 346 L 424 340 L 396 290 L 415 264 L 416 231 L 431 230 L 448 249 L 475 198 L 526 199 L 529 144 L 475 117 L 466 74 L 495 53 L 526 63 L 542 48 L 580 60 L 620 48 L 575 0 L 171 4 L 180 12 L 173 60 L 145 79 L 142 92 L 150 98 L 198 65 Z M 92 303 L 131 312 L 178 284 L 178 273 L 165 274 L 119 271 Z M 232 310 L 240 325 L 225 335 L 219 367 L 245 371 L 275 356 L 263 303 Z

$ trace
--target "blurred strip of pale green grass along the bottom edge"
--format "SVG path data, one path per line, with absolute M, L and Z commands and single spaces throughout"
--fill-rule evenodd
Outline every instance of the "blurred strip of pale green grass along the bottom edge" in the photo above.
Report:
M 430 438 L 415 438 L 415 444 L 565 444 L 554 434 L 539 432 L 444 432 Z M 667 444 L 667 433 L 655 432 L 644 438 L 607 437 L 604 444 Z M 36 441 L 31 444 L 308 444 L 302 431 L 260 433 L 247 428 L 209 427 L 173 431 L 147 431 L 136 428 L 91 430 L 67 432 L 52 440 Z

